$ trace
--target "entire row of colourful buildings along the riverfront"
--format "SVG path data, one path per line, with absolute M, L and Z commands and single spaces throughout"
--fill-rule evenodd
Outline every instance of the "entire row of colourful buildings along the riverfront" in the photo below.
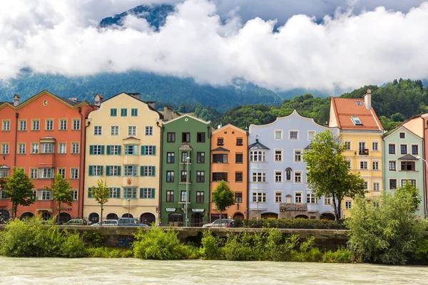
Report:
M 103 219 L 136 217 L 141 222 L 201 225 L 220 217 L 211 193 L 225 180 L 235 205 L 223 218 L 334 219 L 332 197 L 317 199 L 307 186 L 302 152 L 317 133 L 342 135 L 352 172 L 366 181 L 367 195 L 394 191 L 410 182 L 421 192 L 418 214 L 426 213 L 424 136 L 427 118 L 419 115 L 385 133 L 365 98 L 332 98 L 330 120 L 318 125 L 294 111 L 267 125 L 242 130 L 212 128 L 210 122 L 170 108 L 159 112 L 137 93 L 120 93 L 94 103 L 60 98 L 47 91 L 20 102 L 0 102 L 0 177 L 24 168 L 34 182 L 36 202 L 19 207 L 19 217 L 58 211 L 45 189 L 60 173 L 71 181 L 74 202 L 61 219 L 101 219 L 90 189 L 106 180 L 110 190 Z M 343 216 L 352 199 L 342 201 Z M 11 202 L 0 190 L 0 214 Z

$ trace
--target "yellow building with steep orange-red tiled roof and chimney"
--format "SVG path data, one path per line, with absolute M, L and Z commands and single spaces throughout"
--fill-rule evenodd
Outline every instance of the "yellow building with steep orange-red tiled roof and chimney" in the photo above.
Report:
M 331 98 L 329 127 L 340 128 L 347 150 L 345 159 L 352 172 L 360 172 L 367 196 L 380 194 L 382 185 L 382 124 L 372 108 L 371 90 L 362 98 Z M 352 199 L 342 201 L 342 217 L 348 215 Z

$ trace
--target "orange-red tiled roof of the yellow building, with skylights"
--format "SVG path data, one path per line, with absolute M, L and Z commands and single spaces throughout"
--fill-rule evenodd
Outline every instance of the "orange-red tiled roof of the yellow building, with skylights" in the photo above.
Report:
M 361 105 L 357 105 L 360 102 Z M 363 98 L 331 98 L 331 107 L 341 130 L 375 130 L 383 127 L 374 109 L 367 109 Z M 355 125 L 351 117 L 358 117 L 362 125 Z

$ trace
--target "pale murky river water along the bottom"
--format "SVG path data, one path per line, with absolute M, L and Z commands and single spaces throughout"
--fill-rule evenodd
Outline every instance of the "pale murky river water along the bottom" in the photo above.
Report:
M 428 267 L 0 257 L 0 284 L 428 284 Z

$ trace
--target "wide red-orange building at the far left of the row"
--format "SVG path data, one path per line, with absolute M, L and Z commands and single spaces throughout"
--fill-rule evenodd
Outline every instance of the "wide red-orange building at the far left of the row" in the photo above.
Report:
M 56 173 L 70 180 L 75 199 L 72 206 L 62 207 L 61 218 L 81 217 L 84 127 L 91 110 L 86 101 L 60 98 L 46 90 L 22 103 L 19 95 L 12 103 L 0 102 L 0 177 L 11 176 L 14 166 L 24 168 L 37 198 L 29 207 L 19 206 L 17 217 L 41 214 L 47 219 L 58 212 L 52 193 L 44 189 Z M 1 190 L 0 214 L 11 215 L 10 199 Z

